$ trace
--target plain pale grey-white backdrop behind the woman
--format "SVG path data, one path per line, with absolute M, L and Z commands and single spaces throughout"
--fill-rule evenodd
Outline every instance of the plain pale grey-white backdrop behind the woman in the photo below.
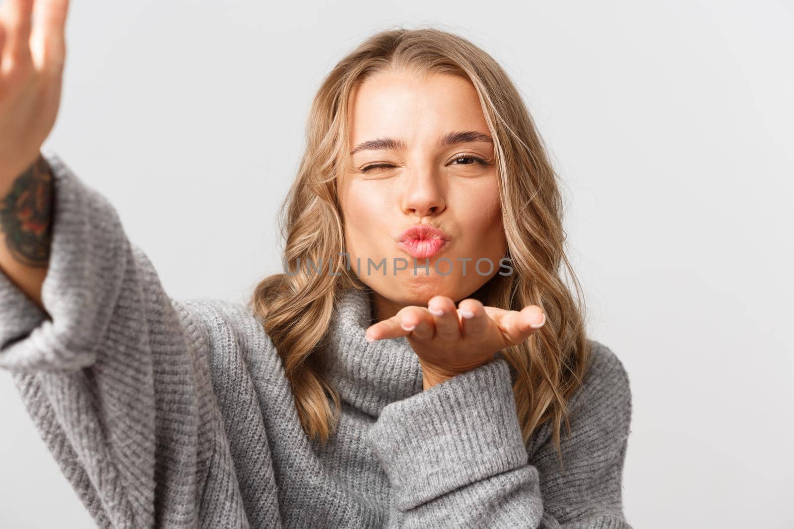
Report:
M 589 331 L 622 359 L 634 527 L 794 527 L 792 2 L 72 0 L 45 146 L 173 297 L 245 302 L 310 100 L 376 30 L 507 69 L 549 145 Z M 0 374 L 0 526 L 91 527 Z

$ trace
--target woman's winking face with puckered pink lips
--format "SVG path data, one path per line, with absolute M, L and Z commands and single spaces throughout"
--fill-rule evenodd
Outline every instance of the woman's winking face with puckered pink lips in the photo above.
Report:
M 474 86 L 455 75 L 384 72 L 353 91 L 349 109 L 352 154 L 338 191 L 349 263 L 375 292 L 376 320 L 436 295 L 468 297 L 499 273 L 507 249 Z M 420 225 L 438 231 L 400 242 Z

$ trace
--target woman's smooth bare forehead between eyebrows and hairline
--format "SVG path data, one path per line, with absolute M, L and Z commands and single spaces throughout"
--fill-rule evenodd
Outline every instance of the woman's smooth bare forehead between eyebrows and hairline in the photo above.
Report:
M 457 75 L 417 77 L 380 72 L 349 97 L 349 143 L 380 136 L 409 141 L 454 130 L 488 133 L 480 98 L 468 79 Z

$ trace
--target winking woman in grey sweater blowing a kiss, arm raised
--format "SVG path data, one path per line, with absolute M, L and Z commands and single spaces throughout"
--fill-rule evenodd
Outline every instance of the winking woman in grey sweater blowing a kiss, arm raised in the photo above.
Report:
M 283 273 L 178 301 L 40 151 L 67 2 L 29 47 L 31 3 L 2 15 L 0 366 L 100 527 L 630 527 L 628 378 L 558 277 L 556 177 L 490 56 L 360 44 L 314 99 Z

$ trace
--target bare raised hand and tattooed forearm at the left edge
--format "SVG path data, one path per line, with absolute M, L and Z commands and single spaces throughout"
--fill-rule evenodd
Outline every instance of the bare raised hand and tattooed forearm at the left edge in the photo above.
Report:
M 0 3 L 0 269 L 40 309 L 52 174 L 40 155 L 60 106 L 68 2 Z M 32 38 L 33 37 L 33 38 Z

